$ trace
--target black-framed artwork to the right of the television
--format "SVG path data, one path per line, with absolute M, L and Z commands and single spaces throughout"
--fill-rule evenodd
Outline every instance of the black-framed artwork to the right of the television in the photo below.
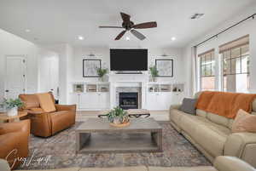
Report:
M 159 77 L 173 77 L 173 60 L 155 60 L 155 66 Z

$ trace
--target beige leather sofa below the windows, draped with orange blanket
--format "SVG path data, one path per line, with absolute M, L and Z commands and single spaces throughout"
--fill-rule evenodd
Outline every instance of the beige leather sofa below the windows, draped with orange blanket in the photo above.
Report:
M 195 94 L 199 98 L 201 93 Z M 218 156 L 239 157 L 256 167 L 256 134 L 231 133 L 233 119 L 206 111 L 196 110 L 189 115 L 179 110 L 180 105 L 170 108 L 170 121 L 211 162 Z M 256 114 L 256 100 L 253 113 Z

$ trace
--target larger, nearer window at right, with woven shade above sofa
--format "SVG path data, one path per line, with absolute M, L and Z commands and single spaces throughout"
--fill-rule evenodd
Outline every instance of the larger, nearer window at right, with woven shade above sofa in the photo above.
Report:
M 249 38 L 241 37 L 220 48 L 223 91 L 247 93 L 249 89 Z

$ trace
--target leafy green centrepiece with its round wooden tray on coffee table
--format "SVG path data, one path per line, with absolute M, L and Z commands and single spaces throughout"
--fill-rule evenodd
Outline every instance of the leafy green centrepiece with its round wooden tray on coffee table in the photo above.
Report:
M 120 107 L 115 107 L 107 114 L 108 121 L 111 126 L 125 127 L 130 125 L 130 120 L 127 111 L 124 111 Z

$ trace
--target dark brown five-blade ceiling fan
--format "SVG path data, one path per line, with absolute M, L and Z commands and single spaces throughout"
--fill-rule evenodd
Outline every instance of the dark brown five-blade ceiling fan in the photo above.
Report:
M 117 37 L 115 37 L 114 40 L 119 40 L 121 37 L 125 35 L 126 31 L 131 31 L 131 34 L 133 34 L 135 37 L 137 37 L 140 40 L 144 40 L 146 37 L 140 33 L 139 31 L 135 29 L 146 29 L 146 28 L 154 28 L 157 27 L 156 21 L 146 22 L 135 25 L 131 20 L 131 16 L 129 14 L 120 13 L 123 23 L 122 26 L 99 26 L 99 28 L 121 28 L 125 29 L 124 31 L 121 31 Z

